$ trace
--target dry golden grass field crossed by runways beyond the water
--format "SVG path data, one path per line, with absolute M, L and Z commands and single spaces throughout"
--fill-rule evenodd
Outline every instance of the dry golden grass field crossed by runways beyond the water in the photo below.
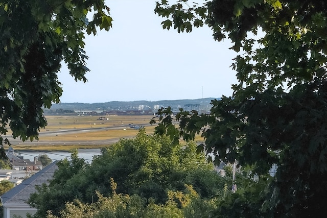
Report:
M 39 140 L 19 141 L 12 139 L 16 150 L 62 151 L 73 148 L 95 149 L 107 147 L 120 138 L 136 136 L 138 130 L 131 126 L 143 126 L 148 134 L 154 133 L 156 125 L 150 125 L 152 115 L 121 116 L 45 116 L 48 126 L 40 130 Z M 11 135 L 8 132 L 7 135 Z M 202 142 L 198 136 L 196 141 Z

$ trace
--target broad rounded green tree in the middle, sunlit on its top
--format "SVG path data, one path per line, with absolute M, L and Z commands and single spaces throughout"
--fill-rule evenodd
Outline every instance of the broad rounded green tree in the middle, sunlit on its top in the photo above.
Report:
M 185 184 L 192 185 L 201 199 L 222 197 L 226 179 L 195 149 L 194 143 L 172 146 L 169 138 L 146 135 L 141 129 L 135 138 L 121 139 L 102 150 L 90 165 L 77 154 L 72 154 L 71 161 L 59 161 L 49 186 L 38 188 L 29 202 L 38 209 L 38 217 L 44 217 L 48 210 L 59 215 L 65 202 L 98 202 L 96 191 L 105 197 L 112 196 L 110 178 L 117 183 L 116 193 L 137 195 L 158 205 L 166 204 L 169 191 L 187 193 Z

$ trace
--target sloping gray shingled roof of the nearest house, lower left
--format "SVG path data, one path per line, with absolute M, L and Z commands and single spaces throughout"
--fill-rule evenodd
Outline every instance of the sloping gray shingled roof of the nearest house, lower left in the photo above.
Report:
M 54 161 L 41 171 L 4 193 L 4 195 L 0 196 L 2 204 L 26 203 L 26 201 L 30 198 L 31 193 L 36 191 L 35 186 L 40 186 L 43 183 L 49 183 L 48 181 L 52 179 L 54 172 L 58 168 L 57 162 L 58 161 Z

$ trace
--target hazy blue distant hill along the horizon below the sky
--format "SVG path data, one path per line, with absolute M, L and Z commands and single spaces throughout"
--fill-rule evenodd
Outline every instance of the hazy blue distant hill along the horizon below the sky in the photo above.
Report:
M 105 103 L 61 103 L 53 104 L 51 110 L 82 111 L 107 111 L 107 110 L 153 110 L 170 106 L 173 111 L 179 108 L 185 110 L 209 110 L 211 101 L 215 98 L 194 99 L 194 100 L 164 100 L 164 101 L 133 101 L 133 102 L 105 102 Z M 44 110 L 46 112 L 46 109 Z

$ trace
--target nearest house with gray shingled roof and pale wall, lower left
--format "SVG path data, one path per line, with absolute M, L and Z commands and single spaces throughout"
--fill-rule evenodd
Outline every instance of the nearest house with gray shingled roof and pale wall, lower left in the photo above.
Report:
M 26 218 L 27 213 L 34 214 L 36 212 L 36 208 L 30 207 L 26 202 L 30 198 L 31 193 L 36 191 L 35 186 L 41 186 L 43 183 L 49 184 L 49 180 L 52 179 L 54 172 L 58 168 L 57 162 L 54 161 L 0 196 L 4 208 L 4 218 L 13 217 L 14 214 Z

